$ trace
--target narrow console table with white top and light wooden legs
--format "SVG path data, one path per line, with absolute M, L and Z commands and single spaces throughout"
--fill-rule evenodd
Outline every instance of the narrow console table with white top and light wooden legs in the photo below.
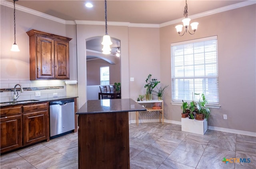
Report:
M 146 100 L 146 101 L 137 101 L 137 103 L 162 103 L 160 109 L 152 109 L 152 107 L 145 107 L 148 111 L 159 111 L 159 122 L 161 123 L 162 118 L 162 125 L 164 125 L 164 101 L 163 100 Z M 139 111 L 136 111 L 136 124 L 139 125 Z

